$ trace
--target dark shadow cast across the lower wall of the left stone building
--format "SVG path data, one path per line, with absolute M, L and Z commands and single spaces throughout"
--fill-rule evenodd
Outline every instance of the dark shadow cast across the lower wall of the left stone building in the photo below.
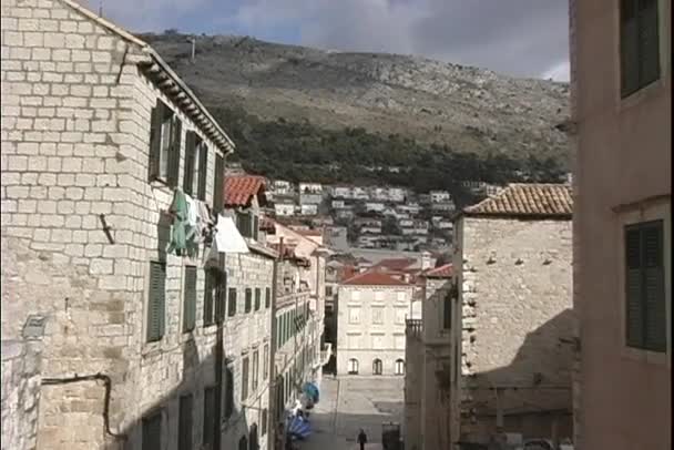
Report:
M 210 350 L 205 359 L 201 359 L 194 339 L 183 344 L 182 381 L 159 401 L 146 408 L 143 417 L 123 430 L 124 439 L 112 439 L 108 436 L 105 450 L 181 450 L 181 449 L 215 449 L 215 349 Z M 227 359 L 225 358 L 225 361 Z M 225 388 L 228 380 L 223 367 L 223 405 L 221 425 L 221 447 L 226 449 L 248 449 L 248 441 L 255 439 L 256 425 L 251 427 L 246 415 L 233 402 L 232 411 L 225 420 L 226 401 L 234 399 L 227 396 Z M 206 423 L 211 423 L 207 426 Z M 113 425 L 114 426 L 114 425 Z M 234 436 L 234 430 L 246 430 Z M 266 439 L 266 434 L 263 437 Z M 245 447 L 239 447 L 245 443 Z

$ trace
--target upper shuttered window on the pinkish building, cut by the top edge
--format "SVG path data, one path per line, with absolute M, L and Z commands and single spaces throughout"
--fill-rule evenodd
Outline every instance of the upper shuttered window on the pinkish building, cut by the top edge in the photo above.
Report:
M 621 95 L 639 91 L 660 79 L 657 0 L 621 0 Z

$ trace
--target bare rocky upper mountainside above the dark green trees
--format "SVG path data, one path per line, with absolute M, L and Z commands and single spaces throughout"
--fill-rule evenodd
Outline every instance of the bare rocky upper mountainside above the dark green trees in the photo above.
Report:
M 211 108 L 325 130 L 362 127 L 453 152 L 566 164 L 569 86 L 422 58 L 320 51 L 242 37 L 144 34 Z M 228 127 L 227 123 L 224 123 Z

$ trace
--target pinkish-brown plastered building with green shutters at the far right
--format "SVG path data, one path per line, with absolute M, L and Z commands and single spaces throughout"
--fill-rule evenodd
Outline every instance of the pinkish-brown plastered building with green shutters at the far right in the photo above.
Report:
M 570 4 L 575 448 L 672 448 L 672 2 Z

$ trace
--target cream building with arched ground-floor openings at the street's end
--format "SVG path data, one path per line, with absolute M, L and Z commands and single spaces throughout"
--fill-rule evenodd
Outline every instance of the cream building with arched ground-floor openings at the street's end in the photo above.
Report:
M 405 320 L 412 317 L 412 285 L 381 272 L 339 285 L 338 375 L 405 375 Z

